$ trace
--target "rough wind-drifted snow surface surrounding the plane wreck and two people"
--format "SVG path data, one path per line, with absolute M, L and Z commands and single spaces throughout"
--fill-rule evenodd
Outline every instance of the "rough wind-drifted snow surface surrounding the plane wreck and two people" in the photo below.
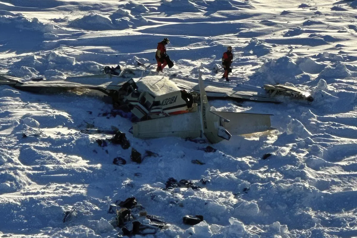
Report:
M 1 86 L 2 237 L 120 236 L 108 208 L 131 196 L 169 223 L 146 237 L 357 236 L 357 0 L 1 0 L 0 29 L 2 74 L 53 79 L 133 65 L 135 57 L 155 63 L 157 42 L 168 37 L 175 66 L 165 74 L 197 78 L 203 63 L 203 78 L 218 81 L 211 69 L 231 45 L 230 84 L 289 82 L 315 98 L 211 102 L 274 114 L 276 130 L 233 136 L 207 153 L 198 148 L 208 144 L 179 138 L 133 138 L 131 122 L 107 114 L 112 106 L 101 98 Z M 89 124 L 115 125 L 132 148 L 159 157 L 138 165 L 131 149 L 97 144 L 112 135 L 81 133 Z M 117 156 L 127 164 L 114 165 Z M 169 177 L 202 188 L 162 190 Z M 190 227 L 185 215 L 205 222 Z

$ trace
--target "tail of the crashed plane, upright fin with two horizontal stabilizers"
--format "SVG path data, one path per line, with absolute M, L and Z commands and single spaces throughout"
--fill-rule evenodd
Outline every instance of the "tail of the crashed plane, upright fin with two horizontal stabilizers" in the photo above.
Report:
M 133 123 L 137 138 L 160 138 L 177 136 L 197 138 L 203 135 L 214 144 L 229 140 L 231 135 L 255 133 L 271 129 L 270 114 L 252 114 L 211 111 L 201 72 L 198 79 L 200 109 L 191 113 L 162 117 Z M 198 104 L 195 105 L 198 107 Z

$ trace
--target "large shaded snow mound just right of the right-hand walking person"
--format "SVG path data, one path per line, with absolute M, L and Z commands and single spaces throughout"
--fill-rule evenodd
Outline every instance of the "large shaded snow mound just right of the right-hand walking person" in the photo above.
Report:
M 257 85 L 264 83 L 277 84 L 285 82 L 307 81 L 308 75 L 301 75 L 303 71 L 294 63 L 290 57 L 283 56 L 277 60 L 271 60 L 264 63 L 251 77 L 249 82 Z

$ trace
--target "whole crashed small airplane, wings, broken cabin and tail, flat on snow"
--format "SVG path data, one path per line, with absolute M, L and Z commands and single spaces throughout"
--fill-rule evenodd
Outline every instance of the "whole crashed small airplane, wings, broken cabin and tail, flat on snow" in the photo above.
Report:
M 144 71 L 142 71 L 144 72 Z M 64 80 L 25 81 L 0 75 L 0 84 L 30 92 L 92 89 L 109 96 L 114 105 L 138 119 L 132 124 L 137 138 L 207 138 L 210 143 L 229 140 L 231 135 L 266 131 L 271 114 L 236 113 L 211 110 L 208 99 L 253 100 L 277 103 L 275 98 L 252 91 L 237 91 L 217 82 L 203 83 L 201 72 L 195 79 L 146 75 L 132 78 L 135 70 L 109 68 L 105 74 L 67 77 Z M 128 80 L 128 78 L 130 78 Z

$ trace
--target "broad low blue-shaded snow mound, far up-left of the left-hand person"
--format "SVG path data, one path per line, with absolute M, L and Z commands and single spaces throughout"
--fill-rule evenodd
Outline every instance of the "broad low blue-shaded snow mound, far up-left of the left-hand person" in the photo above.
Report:
M 70 27 L 81 28 L 90 31 L 111 30 L 113 29 L 112 21 L 109 17 L 91 14 L 72 20 L 68 24 Z

